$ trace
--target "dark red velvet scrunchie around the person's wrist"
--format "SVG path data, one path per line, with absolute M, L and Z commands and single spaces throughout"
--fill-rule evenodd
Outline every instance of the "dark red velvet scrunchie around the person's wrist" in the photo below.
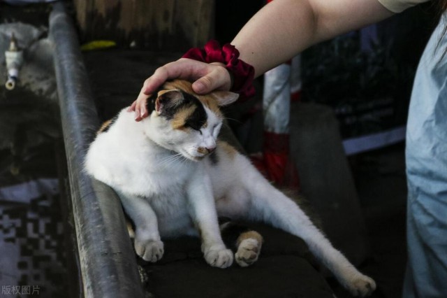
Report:
M 208 41 L 203 49 L 191 48 L 182 58 L 201 62 L 221 62 L 233 75 L 231 91 L 239 93 L 240 97 L 248 98 L 255 94 L 253 87 L 254 67 L 239 58 L 239 51 L 234 45 L 226 43 L 221 47 L 217 41 Z

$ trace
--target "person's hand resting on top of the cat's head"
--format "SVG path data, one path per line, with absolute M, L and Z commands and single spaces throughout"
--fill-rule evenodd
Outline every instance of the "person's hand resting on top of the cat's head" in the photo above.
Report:
M 133 101 L 128 111 L 135 112 L 135 120 L 146 118 L 149 113 L 146 108 L 147 98 L 166 80 L 181 78 L 193 82 L 193 90 L 197 94 L 207 94 L 213 90 L 228 91 L 231 87 L 230 73 L 225 65 L 219 62 L 210 64 L 193 59 L 181 58 L 156 69 L 154 74 L 145 80 L 138 98 Z

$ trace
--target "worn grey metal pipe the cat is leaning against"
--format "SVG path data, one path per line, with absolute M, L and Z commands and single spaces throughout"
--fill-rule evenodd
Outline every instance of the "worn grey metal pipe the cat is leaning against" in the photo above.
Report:
M 85 297 L 143 297 L 122 206 L 110 187 L 82 171 L 98 128 L 78 36 L 64 3 L 50 14 L 61 123 Z

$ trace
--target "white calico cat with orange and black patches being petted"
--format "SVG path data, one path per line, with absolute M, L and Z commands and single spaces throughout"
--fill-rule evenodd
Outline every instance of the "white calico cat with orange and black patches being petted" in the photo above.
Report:
M 218 139 L 219 106 L 237 94 L 195 94 L 191 83 L 168 81 L 148 99 L 149 117 L 135 122 L 124 108 L 101 128 L 85 159 L 89 175 L 113 187 L 135 224 L 135 251 L 149 262 L 163 256 L 163 237 L 194 235 L 208 264 L 226 268 L 233 253 L 219 231 L 218 216 L 257 220 L 301 237 L 312 253 L 353 295 L 376 285 L 332 247 L 307 215 L 274 188 L 235 148 Z M 262 237 L 237 239 L 238 264 L 255 262 Z

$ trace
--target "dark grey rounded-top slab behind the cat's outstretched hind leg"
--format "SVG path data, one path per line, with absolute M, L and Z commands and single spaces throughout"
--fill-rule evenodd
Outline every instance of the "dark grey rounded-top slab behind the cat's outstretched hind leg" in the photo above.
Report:
M 368 251 L 365 222 L 332 109 L 292 104 L 290 137 L 302 194 L 334 246 L 359 264 Z

